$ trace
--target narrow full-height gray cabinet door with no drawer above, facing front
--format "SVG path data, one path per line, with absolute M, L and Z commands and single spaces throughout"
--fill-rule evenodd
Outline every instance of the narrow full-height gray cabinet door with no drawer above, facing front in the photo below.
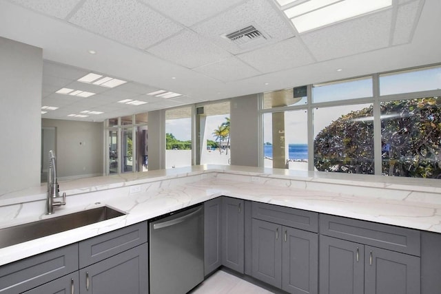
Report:
M 244 273 L 244 200 L 223 198 L 222 264 Z

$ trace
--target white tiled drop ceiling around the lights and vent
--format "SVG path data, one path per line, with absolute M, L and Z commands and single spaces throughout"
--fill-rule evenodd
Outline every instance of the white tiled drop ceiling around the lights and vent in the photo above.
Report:
M 43 118 L 101 121 L 440 63 L 440 12 L 440 0 L 393 0 L 391 8 L 298 34 L 274 0 L 0 0 L 0 36 L 43 48 L 42 105 L 59 107 Z M 247 25 L 267 39 L 240 47 L 223 37 Z M 128 83 L 76 81 L 89 72 Z M 62 87 L 96 95 L 55 93 Z M 156 90 L 183 96 L 146 95 Z M 126 98 L 147 104 L 117 103 Z M 104 113 L 68 117 L 84 110 Z

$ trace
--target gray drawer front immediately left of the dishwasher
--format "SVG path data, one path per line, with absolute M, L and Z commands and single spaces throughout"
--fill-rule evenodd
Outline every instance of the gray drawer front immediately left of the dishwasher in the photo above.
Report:
M 147 242 L 147 222 L 79 242 L 79 266 L 94 264 Z

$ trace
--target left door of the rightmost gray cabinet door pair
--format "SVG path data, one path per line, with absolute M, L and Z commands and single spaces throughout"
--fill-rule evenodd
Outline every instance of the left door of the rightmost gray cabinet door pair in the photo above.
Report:
M 320 235 L 320 294 L 363 294 L 364 250 L 363 244 Z

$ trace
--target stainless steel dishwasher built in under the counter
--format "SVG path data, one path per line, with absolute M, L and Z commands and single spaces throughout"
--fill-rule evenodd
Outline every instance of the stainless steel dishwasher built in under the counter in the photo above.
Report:
M 203 205 L 150 222 L 150 294 L 184 294 L 204 279 Z

